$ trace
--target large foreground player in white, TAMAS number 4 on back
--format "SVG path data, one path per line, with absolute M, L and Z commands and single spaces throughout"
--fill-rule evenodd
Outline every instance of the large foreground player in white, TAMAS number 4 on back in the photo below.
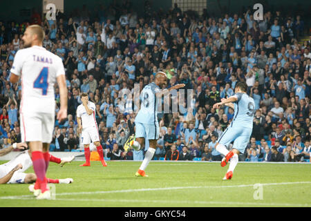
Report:
M 55 123 L 55 92 L 57 81 L 60 108 L 57 119 L 67 117 L 67 87 L 62 59 L 42 47 L 44 30 L 32 25 L 23 33 L 25 49 L 18 50 L 10 70 L 10 82 L 21 77 L 21 105 L 19 107 L 21 140 L 28 142 L 32 153 L 32 164 L 37 181 L 35 189 L 40 189 L 38 200 L 50 199 L 46 171 L 50 154 L 48 149 L 53 138 Z

